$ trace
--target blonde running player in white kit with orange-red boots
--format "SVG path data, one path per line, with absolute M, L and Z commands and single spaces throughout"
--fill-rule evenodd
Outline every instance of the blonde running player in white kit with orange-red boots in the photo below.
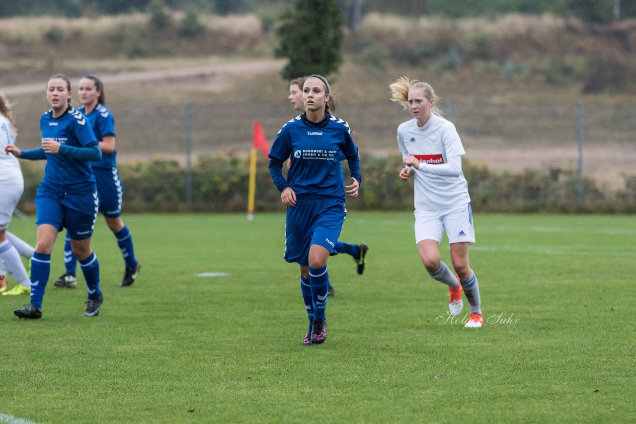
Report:
M 415 242 L 429 275 L 448 285 L 448 310 L 457 317 L 463 308 L 462 289 L 470 305 L 464 328 L 483 326 L 477 278 L 468 263 L 468 247 L 475 242 L 468 186 L 462 172 L 466 154 L 455 125 L 435 108 L 438 98 L 427 84 L 397 79 L 391 97 L 408 109 L 413 119 L 397 127 L 397 146 L 404 159 L 402 181 L 415 175 Z M 457 277 L 439 256 L 446 231 L 450 259 Z

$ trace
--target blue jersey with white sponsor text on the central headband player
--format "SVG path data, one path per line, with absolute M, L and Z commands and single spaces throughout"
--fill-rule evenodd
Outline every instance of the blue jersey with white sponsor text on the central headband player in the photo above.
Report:
M 358 150 L 349 124 L 329 114 L 319 123 L 307 121 L 305 114 L 296 116 L 280 129 L 270 150 L 270 160 L 277 163 L 291 157 L 287 181 L 274 183 L 280 191 L 289 186 L 300 196 L 343 198 L 341 152 L 349 161 L 352 177 L 360 182 Z

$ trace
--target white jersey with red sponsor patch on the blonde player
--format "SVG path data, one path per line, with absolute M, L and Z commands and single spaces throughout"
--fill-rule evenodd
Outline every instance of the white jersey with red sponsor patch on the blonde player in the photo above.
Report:
M 466 154 L 455 125 L 436 114 L 422 128 L 415 118 L 401 123 L 397 127 L 397 146 L 403 158 L 412 154 L 430 165 L 448 163 L 448 158 Z M 432 175 L 418 169 L 414 172 L 415 209 L 448 209 L 471 201 L 463 172 L 457 177 Z

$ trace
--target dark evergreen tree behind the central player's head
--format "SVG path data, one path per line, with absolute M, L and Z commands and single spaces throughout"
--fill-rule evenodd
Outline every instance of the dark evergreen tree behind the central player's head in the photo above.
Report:
M 335 0 L 296 0 L 281 17 L 276 57 L 287 57 L 282 78 L 310 74 L 328 76 L 342 64 L 344 19 Z

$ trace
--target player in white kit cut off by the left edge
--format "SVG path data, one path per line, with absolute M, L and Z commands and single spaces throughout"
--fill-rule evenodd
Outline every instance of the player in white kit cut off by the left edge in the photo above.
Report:
M 9 144 L 15 144 L 13 113 L 11 104 L 0 95 L 0 292 L 3 295 L 31 291 L 31 280 L 20 254 L 31 259 L 34 252 L 31 246 L 6 231 L 24 191 L 24 177 L 18 158 L 4 153 L 4 147 Z M 10 291 L 6 291 L 6 271 L 18 282 Z

